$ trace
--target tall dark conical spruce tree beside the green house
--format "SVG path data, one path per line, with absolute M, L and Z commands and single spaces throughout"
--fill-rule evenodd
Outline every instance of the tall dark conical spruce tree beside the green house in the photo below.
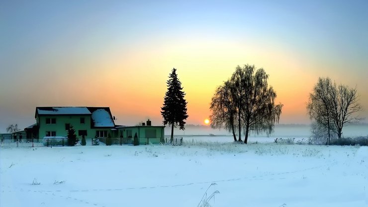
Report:
M 168 91 L 165 94 L 164 105 L 161 107 L 164 125 L 171 126 L 171 142 L 174 140 L 174 127 L 179 125 L 179 128 L 184 130 L 184 120 L 188 117 L 186 113 L 187 102 L 184 99 L 185 93 L 176 71 L 177 69 L 173 68 L 169 80 L 166 82 Z

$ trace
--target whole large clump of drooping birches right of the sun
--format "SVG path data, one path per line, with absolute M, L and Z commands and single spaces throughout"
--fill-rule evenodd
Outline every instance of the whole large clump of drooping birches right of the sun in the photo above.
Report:
M 234 128 L 244 131 L 244 143 L 248 142 L 249 131 L 272 133 L 278 122 L 282 104 L 275 104 L 276 92 L 268 87 L 268 75 L 264 69 L 254 73 L 254 65 L 237 66 L 231 79 L 217 88 L 211 103 L 211 126 L 225 126 L 236 136 Z M 236 123 L 237 122 L 237 123 Z

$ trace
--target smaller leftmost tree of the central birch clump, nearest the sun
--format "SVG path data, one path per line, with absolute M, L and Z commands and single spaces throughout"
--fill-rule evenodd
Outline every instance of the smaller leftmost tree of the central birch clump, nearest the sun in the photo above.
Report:
M 225 128 L 229 132 L 232 132 L 234 141 L 237 141 L 234 125 L 236 107 L 231 94 L 230 81 L 226 81 L 223 85 L 217 87 L 212 97 L 210 109 L 212 111 L 210 115 L 211 127 Z

